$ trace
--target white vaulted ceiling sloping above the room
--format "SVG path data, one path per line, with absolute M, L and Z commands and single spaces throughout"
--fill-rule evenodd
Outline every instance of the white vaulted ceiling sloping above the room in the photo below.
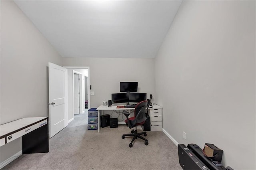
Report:
M 154 58 L 182 0 L 14 0 L 62 57 Z

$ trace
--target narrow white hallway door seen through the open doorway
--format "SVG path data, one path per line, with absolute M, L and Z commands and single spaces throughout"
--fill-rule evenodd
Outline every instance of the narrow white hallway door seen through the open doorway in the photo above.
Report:
M 79 75 L 74 73 L 74 114 L 79 114 Z

